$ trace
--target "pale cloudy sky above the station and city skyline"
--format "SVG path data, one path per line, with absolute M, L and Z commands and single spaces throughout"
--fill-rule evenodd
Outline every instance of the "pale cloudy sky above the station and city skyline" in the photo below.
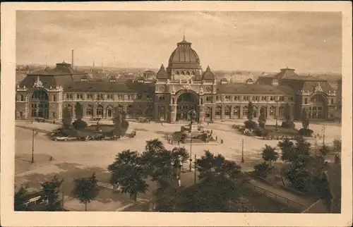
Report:
M 167 67 L 191 42 L 211 70 L 340 73 L 342 18 L 333 12 L 17 11 L 18 64 Z

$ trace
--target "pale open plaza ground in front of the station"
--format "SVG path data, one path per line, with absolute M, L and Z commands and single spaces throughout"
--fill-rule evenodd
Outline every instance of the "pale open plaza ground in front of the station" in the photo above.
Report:
M 102 123 L 110 123 L 109 121 Z M 269 122 L 269 124 L 271 121 Z M 265 145 L 276 146 L 277 140 L 258 140 L 253 137 L 239 134 L 232 125 L 241 124 L 241 121 L 224 121 L 204 125 L 205 130 L 213 130 L 213 134 L 224 141 L 213 143 L 198 143 L 192 145 L 192 154 L 194 158 L 199 158 L 205 150 L 210 150 L 214 154 L 222 154 L 226 159 L 231 159 L 242 166 L 243 171 L 252 171 L 253 165 L 262 161 L 261 152 Z M 297 128 L 301 123 L 296 122 Z M 71 197 L 72 180 L 77 177 L 89 176 L 92 172 L 97 173 L 100 181 L 102 195 L 95 202 L 90 204 L 89 210 L 116 211 L 123 209 L 131 204 L 128 195 L 116 195 L 109 192 L 109 172 L 107 166 L 112 164 L 116 154 L 124 149 L 143 152 L 146 140 L 158 138 L 167 149 L 172 149 L 178 145 L 170 145 L 167 142 L 166 135 L 171 135 L 174 131 L 180 129 L 181 124 L 168 123 L 136 123 L 131 121 L 128 131 L 136 130 L 137 135 L 134 138 L 122 138 L 116 141 L 68 141 L 54 142 L 44 133 L 54 130 L 59 125 L 52 123 L 36 123 L 28 121 L 16 122 L 16 185 L 25 185 L 33 190 L 40 189 L 40 182 L 51 180 L 52 176 L 65 178 L 64 183 L 64 201 L 65 206 L 72 210 L 83 209 L 83 204 Z M 32 153 L 32 128 L 37 128 L 40 133 L 35 135 L 34 158 L 35 162 L 30 163 Z M 322 125 L 311 124 L 310 128 L 318 133 Z M 340 138 L 340 125 L 330 123 L 325 125 L 325 144 L 331 144 L 335 138 Z M 244 164 L 241 163 L 241 140 L 244 140 Z M 309 142 L 315 143 L 313 138 Z M 322 140 L 316 141 L 322 143 Z M 180 144 L 190 151 L 190 144 Z M 184 164 L 188 169 L 189 164 Z M 184 173 L 183 183 L 191 185 L 193 183 L 193 174 Z M 138 196 L 138 202 L 147 201 L 152 196 L 152 190 L 155 188 L 152 182 L 149 191 L 145 195 Z M 111 190 L 110 190 L 111 191 Z M 104 197 L 102 199 L 100 197 Z

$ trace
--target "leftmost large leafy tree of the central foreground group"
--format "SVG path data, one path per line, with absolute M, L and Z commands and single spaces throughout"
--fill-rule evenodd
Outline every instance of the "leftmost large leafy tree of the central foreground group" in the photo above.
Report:
M 124 150 L 117 154 L 114 163 L 108 166 L 111 174 L 110 183 L 119 185 L 121 192 L 128 193 L 135 202 L 138 193 L 145 193 L 148 190 L 148 184 L 143 180 L 145 168 L 141 160 L 138 152 Z

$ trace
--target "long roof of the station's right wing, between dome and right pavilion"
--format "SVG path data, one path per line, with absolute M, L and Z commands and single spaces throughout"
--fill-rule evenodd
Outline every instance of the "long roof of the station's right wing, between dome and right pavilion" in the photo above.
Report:
M 256 84 L 228 84 L 217 85 L 218 94 L 287 94 L 293 95 L 294 91 L 291 87 L 280 85 L 273 87 L 270 85 L 256 85 Z

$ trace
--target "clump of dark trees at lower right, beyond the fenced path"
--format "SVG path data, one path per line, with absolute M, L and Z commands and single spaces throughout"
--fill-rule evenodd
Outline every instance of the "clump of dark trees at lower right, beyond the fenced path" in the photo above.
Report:
M 335 140 L 333 147 L 340 150 L 340 140 Z M 327 145 L 322 145 L 320 154 L 311 155 L 311 144 L 304 137 L 297 137 L 295 142 L 282 140 L 279 142 L 282 150 L 282 161 L 287 161 L 288 165 L 282 170 L 282 176 L 289 181 L 289 186 L 300 192 L 316 195 L 325 201 L 330 200 L 330 188 L 327 181 L 323 180 L 323 171 L 327 168 L 325 156 L 330 152 Z M 272 161 L 277 161 L 280 154 L 275 152 L 274 147 L 265 145 L 262 152 L 264 162 L 254 166 L 255 173 L 262 178 L 266 178 L 273 170 Z M 269 161 L 268 164 L 266 161 Z M 339 162 L 340 160 L 335 160 Z

